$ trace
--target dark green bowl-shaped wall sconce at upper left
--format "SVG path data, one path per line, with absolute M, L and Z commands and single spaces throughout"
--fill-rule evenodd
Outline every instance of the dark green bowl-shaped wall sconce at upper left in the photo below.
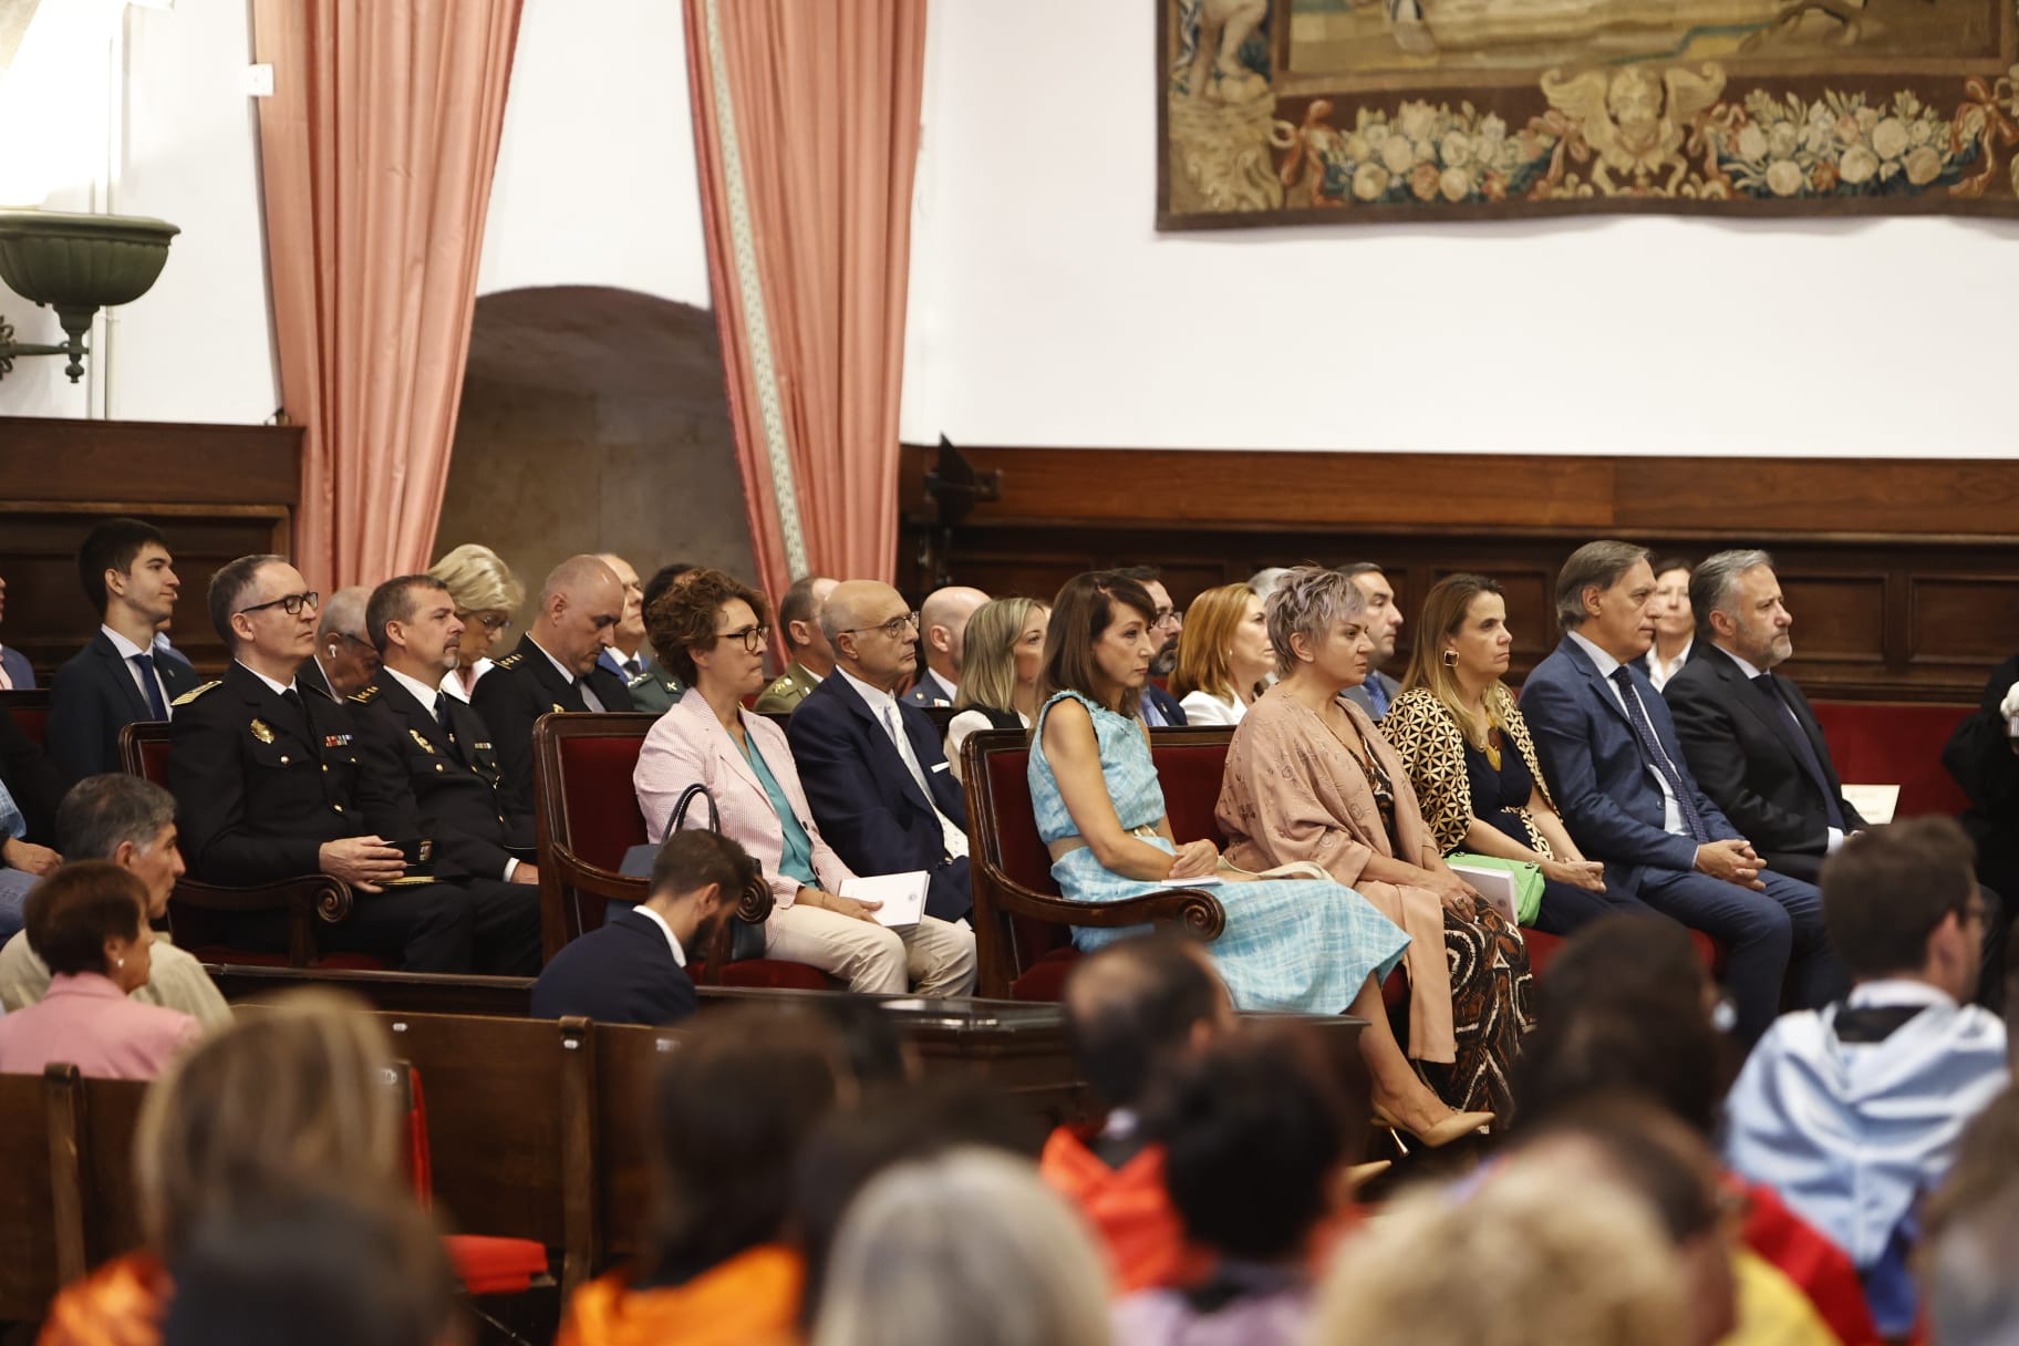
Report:
M 79 216 L 59 210 L 0 210 L 0 281 L 22 299 L 48 305 L 69 333 L 61 345 L 14 341 L 0 319 L 0 377 L 20 355 L 69 355 L 65 373 L 85 375 L 91 315 L 145 295 L 182 230 L 145 216 Z

